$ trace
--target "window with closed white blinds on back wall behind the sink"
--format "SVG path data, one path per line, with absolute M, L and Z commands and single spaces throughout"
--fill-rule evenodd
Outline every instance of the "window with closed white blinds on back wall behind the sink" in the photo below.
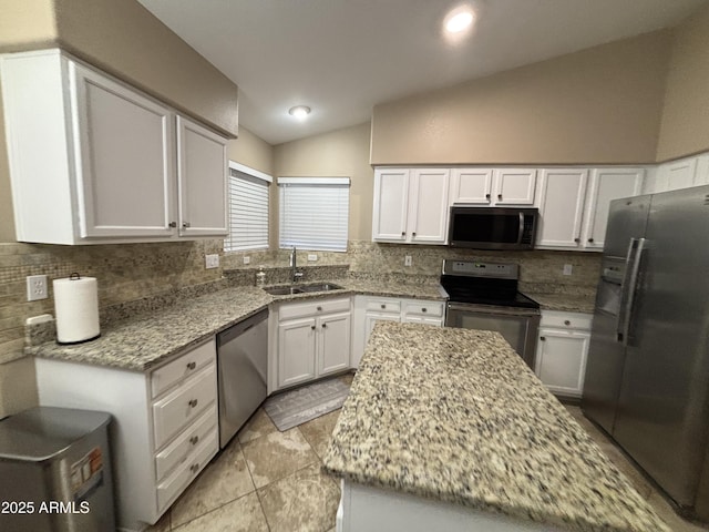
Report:
M 349 177 L 279 177 L 280 247 L 346 252 Z

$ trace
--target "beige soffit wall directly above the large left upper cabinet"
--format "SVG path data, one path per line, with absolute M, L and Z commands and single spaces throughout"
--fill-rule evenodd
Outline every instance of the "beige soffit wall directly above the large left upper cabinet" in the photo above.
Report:
M 0 51 L 60 45 L 227 136 L 237 86 L 135 0 L 0 0 Z

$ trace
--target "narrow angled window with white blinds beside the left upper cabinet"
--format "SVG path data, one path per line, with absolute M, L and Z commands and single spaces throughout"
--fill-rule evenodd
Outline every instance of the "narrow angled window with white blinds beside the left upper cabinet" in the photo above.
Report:
M 225 252 L 268 248 L 268 185 L 257 170 L 229 161 L 229 235 Z

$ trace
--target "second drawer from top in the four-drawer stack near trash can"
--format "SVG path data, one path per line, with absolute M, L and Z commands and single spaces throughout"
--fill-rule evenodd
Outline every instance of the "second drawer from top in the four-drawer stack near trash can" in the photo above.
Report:
M 194 377 L 153 405 L 155 449 L 194 421 L 217 398 L 216 365 L 207 366 Z

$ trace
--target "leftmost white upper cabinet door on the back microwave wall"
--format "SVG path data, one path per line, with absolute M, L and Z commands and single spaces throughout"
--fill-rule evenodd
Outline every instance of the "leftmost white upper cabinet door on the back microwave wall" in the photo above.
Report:
M 409 205 L 409 171 L 380 168 L 374 172 L 372 239 L 404 242 Z

